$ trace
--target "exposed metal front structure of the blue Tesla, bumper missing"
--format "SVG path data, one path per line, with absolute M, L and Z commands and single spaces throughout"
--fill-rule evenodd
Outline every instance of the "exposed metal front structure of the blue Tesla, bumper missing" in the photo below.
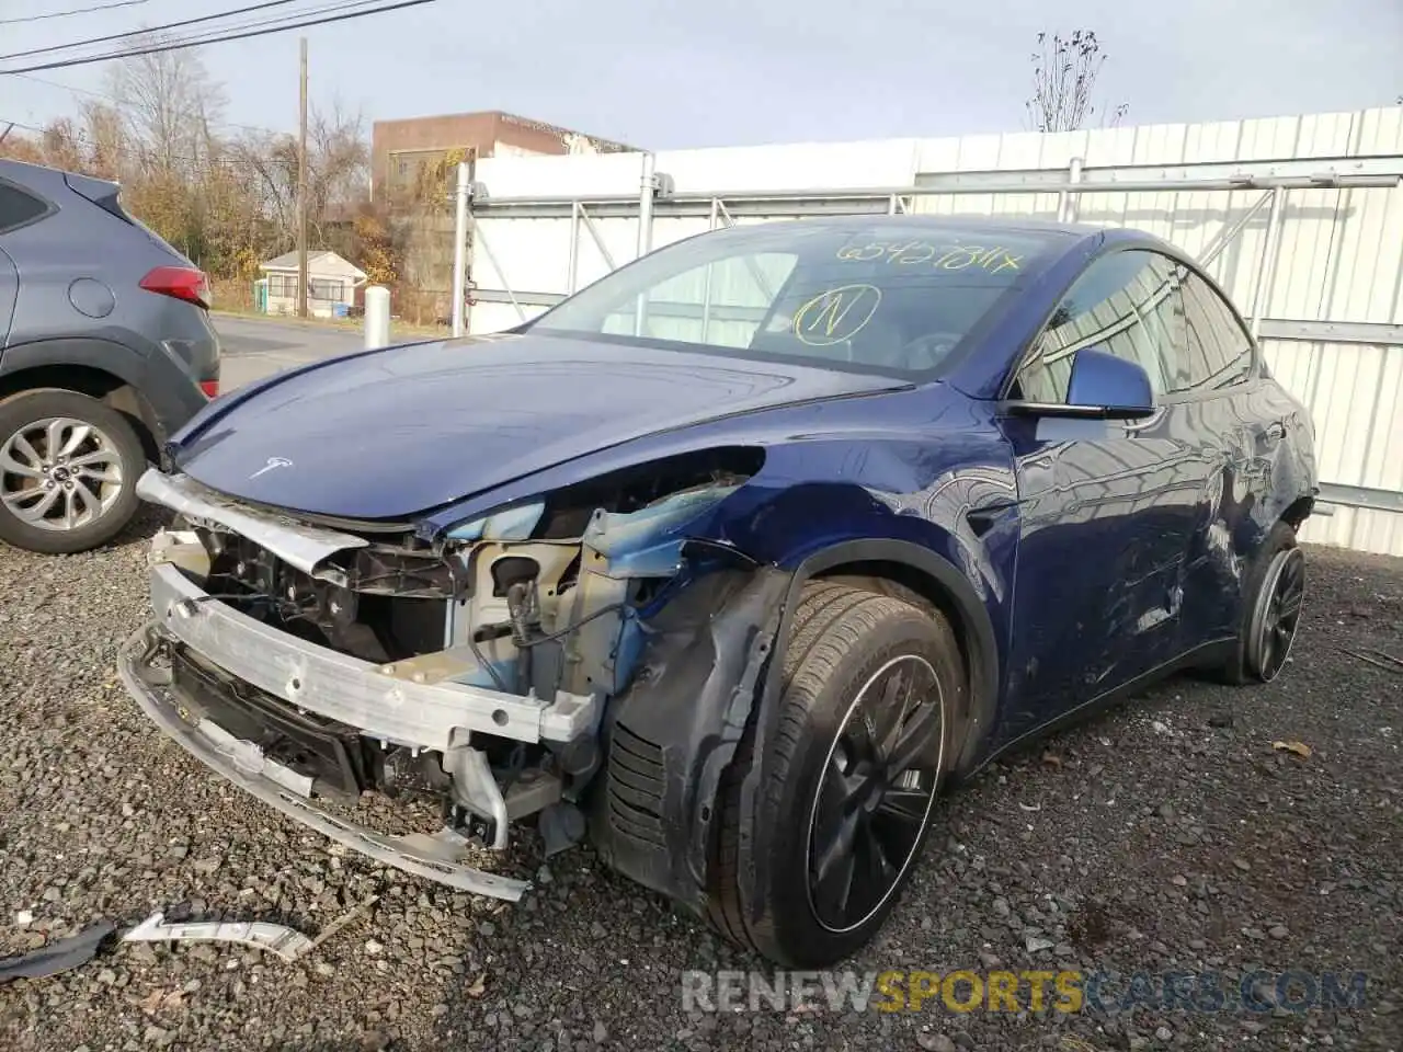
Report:
M 505 850 L 522 821 L 547 856 L 588 835 L 605 707 L 683 571 L 679 527 L 745 477 L 724 456 L 683 468 L 560 491 L 438 541 L 295 522 L 152 471 L 143 497 L 178 518 L 152 544 L 156 619 L 123 679 L 187 749 L 286 814 L 516 898 L 526 884 L 470 865 L 473 851 Z M 366 793 L 436 805 L 442 829 L 383 837 L 337 814 Z

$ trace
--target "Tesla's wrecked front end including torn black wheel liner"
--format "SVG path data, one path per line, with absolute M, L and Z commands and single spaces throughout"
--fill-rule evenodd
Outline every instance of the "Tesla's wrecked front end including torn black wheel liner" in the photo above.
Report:
M 547 856 L 589 836 L 700 908 L 710 801 L 793 579 L 720 526 L 763 459 L 680 454 L 432 529 L 152 470 L 139 494 L 177 516 L 123 682 L 223 777 L 382 863 L 515 901 L 526 881 L 473 861 L 532 821 Z M 442 826 L 380 832 L 365 794 Z

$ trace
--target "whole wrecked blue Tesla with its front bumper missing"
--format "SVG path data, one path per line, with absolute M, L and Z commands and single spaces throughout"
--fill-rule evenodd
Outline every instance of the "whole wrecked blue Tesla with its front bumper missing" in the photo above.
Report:
M 1176 669 L 1281 670 L 1312 443 L 1142 234 L 707 234 L 509 334 L 210 405 L 140 484 L 178 520 L 122 673 L 386 863 L 515 899 L 474 849 L 533 819 L 822 965 L 881 926 L 947 780 Z M 443 828 L 375 832 L 365 793 Z

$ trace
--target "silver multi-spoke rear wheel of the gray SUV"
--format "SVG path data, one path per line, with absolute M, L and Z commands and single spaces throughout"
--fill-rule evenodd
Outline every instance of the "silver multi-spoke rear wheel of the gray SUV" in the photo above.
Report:
M 43 554 L 86 551 L 136 513 L 146 468 L 130 422 L 86 394 L 38 390 L 0 403 L 0 540 Z

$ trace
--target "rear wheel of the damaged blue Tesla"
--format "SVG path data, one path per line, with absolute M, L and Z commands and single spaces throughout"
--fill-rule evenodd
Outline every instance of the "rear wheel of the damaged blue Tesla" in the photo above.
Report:
M 1305 553 L 1285 522 L 1271 527 L 1243 579 L 1242 619 L 1232 659 L 1218 679 L 1233 686 L 1270 683 L 1285 668 L 1305 602 Z

